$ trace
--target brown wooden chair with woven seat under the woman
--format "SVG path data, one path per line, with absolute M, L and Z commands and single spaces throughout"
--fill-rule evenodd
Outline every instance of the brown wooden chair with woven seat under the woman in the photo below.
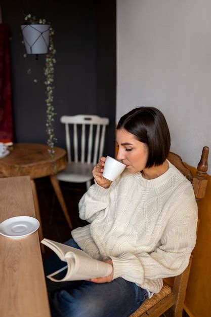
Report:
M 191 171 L 185 167 L 179 155 L 172 152 L 168 155 L 168 160 L 175 165 L 189 181 L 191 181 L 197 204 L 199 204 L 200 200 L 204 197 L 206 191 L 208 152 L 209 148 L 204 146 L 195 176 L 193 176 Z M 193 256 L 191 255 L 189 265 L 185 271 L 173 278 L 173 287 L 170 282 L 172 279 L 164 280 L 161 291 L 158 294 L 154 294 L 151 298 L 146 299 L 131 317 L 158 317 L 164 312 L 167 312 L 167 314 L 165 314 L 166 316 L 182 317 L 192 257 Z

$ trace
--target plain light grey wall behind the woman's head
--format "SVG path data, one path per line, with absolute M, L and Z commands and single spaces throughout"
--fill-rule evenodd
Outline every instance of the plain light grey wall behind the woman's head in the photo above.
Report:
M 210 12 L 210 0 L 117 0 L 116 122 L 159 108 L 171 150 L 195 167 L 202 147 L 211 151 Z

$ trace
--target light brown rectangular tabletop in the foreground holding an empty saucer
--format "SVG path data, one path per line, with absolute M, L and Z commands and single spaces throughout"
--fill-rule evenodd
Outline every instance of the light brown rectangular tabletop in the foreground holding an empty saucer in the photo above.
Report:
M 35 217 L 29 176 L 0 179 L 0 222 Z M 12 239 L 0 234 L 0 316 L 50 317 L 38 233 Z

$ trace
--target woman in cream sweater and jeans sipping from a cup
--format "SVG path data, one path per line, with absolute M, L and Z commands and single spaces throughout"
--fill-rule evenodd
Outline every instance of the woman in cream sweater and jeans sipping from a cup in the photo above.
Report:
M 195 246 L 195 195 L 166 159 L 170 133 L 163 114 L 153 107 L 131 110 L 120 118 L 116 141 L 117 159 L 126 169 L 111 182 L 102 176 L 100 158 L 95 184 L 79 202 L 79 216 L 90 224 L 74 229 L 67 242 L 110 263 L 113 271 L 57 283 L 56 289 L 49 282 L 53 316 L 130 316 L 160 291 L 162 278 L 185 270 Z

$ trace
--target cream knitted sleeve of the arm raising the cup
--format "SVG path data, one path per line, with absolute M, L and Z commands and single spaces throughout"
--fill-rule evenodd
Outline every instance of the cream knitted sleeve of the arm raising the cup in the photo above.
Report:
M 99 215 L 102 215 L 109 205 L 109 193 L 113 186 L 114 183 L 112 183 L 109 188 L 105 189 L 95 182 L 79 201 L 78 208 L 80 219 L 92 222 Z

